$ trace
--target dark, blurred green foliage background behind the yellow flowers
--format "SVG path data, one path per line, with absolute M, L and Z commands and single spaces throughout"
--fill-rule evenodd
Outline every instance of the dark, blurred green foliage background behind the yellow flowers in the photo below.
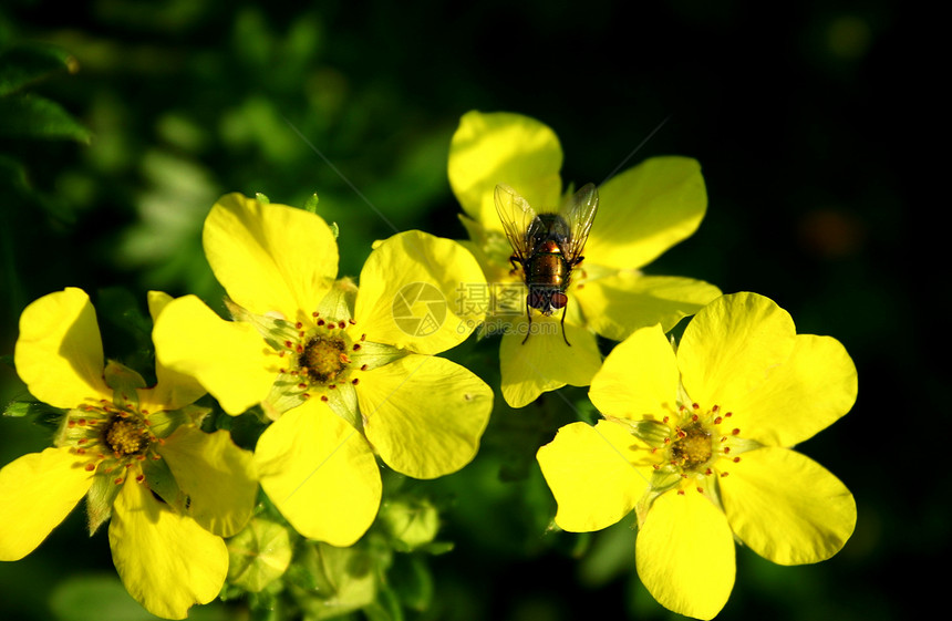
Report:
M 463 238 L 446 155 L 469 110 L 549 124 L 577 185 L 653 155 L 693 156 L 707 216 L 649 271 L 773 298 L 799 331 L 846 345 L 860 386 L 853 411 L 799 447 L 856 495 L 852 539 L 797 568 L 738 548 L 720 618 L 902 618 L 944 592 L 928 568 L 949 545 L 944 230 L 924 209 L 945 207 L 925 192 L 940 177 L 923 148 L 938 142 L 923 87 L 939 74 L 920 73 L 932 58 L 921 19 L 886 0 L 6 2 L 0 46 L 41 41 L 75 56 L 79 72 L 35 91 L 93 138 L 0 143 L 31 186 L 28 198 L 0 197 L 0 353 L 12 353 L 22 308 L 65 286 L 94 300 L 124 287 L 143 308 L 151 288 L 215 299 L 198 240 L 228 192 L 292 205 L 317 192 L 341 226 L 342 275 L 393 232 L 369 205 L 400 230 Z M 474 370 L 489 380 L 486 360 Z M 0 373 L 6 402 L 22 386 Z M 582 539 L 522 515 L 545 491 L 531 465 L 538 428 L 519 418 L 531 415 L 497 412 L 496 437 L 519 428 L 532 442 L 489 437 L 488 456 L 455 479 L 474 488 L 445 516 L 456 549 L 433 560 L 431 617 L 668 617 L 638 586 L 627 524 L 584 539 L 579 561 L 567 550 Z M 42 429 L 0 420 L 2 463 L 44 443 Z M 522 476 L 499 482 L 499 459 Z M 28 559 L 0 565 L 0 611 L 48 619 L 62 580 L 108 575 L 104 534 L 86 539 L 75 514 Z

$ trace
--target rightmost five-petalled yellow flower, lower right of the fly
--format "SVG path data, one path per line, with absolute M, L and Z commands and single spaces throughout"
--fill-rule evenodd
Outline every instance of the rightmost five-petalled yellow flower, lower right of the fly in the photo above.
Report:
M 592 381 L 604 420 L 562 427 L 537 454 L 556 524 L 598 530 L 634 509 L 642 582 L 711 619 L 734 586 L 734 538 L 779 565 L 825 560 L 849 539 L 852 495 L 789 447 L 846 414 L 856 391 L 838 341 L 797 334 L 755 293 L 701 310 L 676 353 L 660 327 L 641 329 Z

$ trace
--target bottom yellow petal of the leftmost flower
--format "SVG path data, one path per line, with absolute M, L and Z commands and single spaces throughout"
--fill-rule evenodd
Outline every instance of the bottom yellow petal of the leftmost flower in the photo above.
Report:
M 220 537 L 176 515 L 132 479 L 113 505 L 110 548 L 130 594 L 166 619 L 185 619 L 193 604 L 215 599 L 228 572 Z

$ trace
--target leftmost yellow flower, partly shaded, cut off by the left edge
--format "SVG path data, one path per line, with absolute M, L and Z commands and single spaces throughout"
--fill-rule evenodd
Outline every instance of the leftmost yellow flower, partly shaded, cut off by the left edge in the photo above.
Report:
M 149 293 L 153 319 L 169 299 Z M 221 537 L 251 516 L 258 485 L 250 453 L 194 424 L 205 391 L 161 364 L 153 387 L 104 365 L 95 311 L 73 288 L 23 311 L 14 361 L 33 396 L 68 412 L 54 447 L 0 470 L 0 560 L 29 555 L 86 496 L 90 531 L 110 519 L 116 570 L 149 612 L 184 619 L 214 599 Z

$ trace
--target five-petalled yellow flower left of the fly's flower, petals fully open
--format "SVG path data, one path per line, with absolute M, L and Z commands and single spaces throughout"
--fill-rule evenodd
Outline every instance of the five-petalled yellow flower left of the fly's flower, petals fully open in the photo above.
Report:
M 395 235 L 376 245 L 358 290 L 334 281 L 337 242 L 319 216 L 238 194 L 211 208 L 204 245 L 236 321 L 179 298 L 156 327 L 156 355 L 226 412 L 260 404 L 275 421 L 255 462 L 300 534 L 350 546 L 366 531 L 381 499 L 375 454 L 416 478 L 475 456 L 491 390 L 431 355 L 482 320 L 456 299 L 462 284 L 485 282 L 465 248 Z

